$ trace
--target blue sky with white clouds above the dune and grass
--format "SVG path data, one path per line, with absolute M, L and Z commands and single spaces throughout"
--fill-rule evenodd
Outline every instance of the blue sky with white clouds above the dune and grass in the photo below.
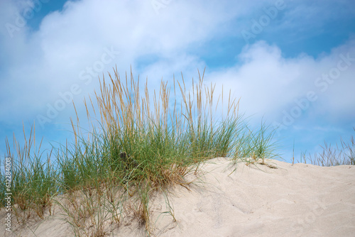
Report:
M 293 142 L 297 159 L 354 135 L 352 0 L 13 0 L 1 1 L 0 25 L 0 155 L 23 124 L 35 122 L 45 148 L 70 138 L 69 101 L 84 114 L 115 66 L 151 89 L 206 67 L 205 82 L 241 97 L 253 125 L 279 127 L 285 160 Z

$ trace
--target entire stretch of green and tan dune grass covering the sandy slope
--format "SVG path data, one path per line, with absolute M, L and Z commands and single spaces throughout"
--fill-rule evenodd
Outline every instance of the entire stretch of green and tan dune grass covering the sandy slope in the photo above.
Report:
M 249 128 L 239 114 L 239 101 L 229 93 L 228 104 L 223 105 L 223 91 L 216 97 L 214 86 L 204 84 L 204 72 L 188 89 L 183 77 L 180 82 L 173 79 L 173 90 L 163 81 L 153 94 L 148 82 L 143 89 L 140 86 L 132 72 L 125 79 L 117 70 L 109 79 L 103 77 L 94 99 L 84 101 L 92 127 L 81 128 L 84 118 L 76 114 L 76 120 L 71 119 L 75 138 L 53 147 L 46 159 L 40 146 L 31 150 L 34 129 L 22 148 L 14 140 L 16 153 L 7 143 L 13 160 L 13 210 L 19 223 L 26 224 L 35 214 L 43 219 L 45 210 L 51 213 L 56 204 L 75 236 L 105 236 L 128 216 L 150 235 L 151 197 L 156 193 L 168 197 L 174 185 L 188 188 L 185 175 L 198 175 L 205 160 L 229 157 L 236 163 L 250 157 L 249 162 L 263 164 L 275 156 L 268 126 Z M 226 112 L 221 116 L 223 106 Z M 1 196 L 4 175 L 0 179 Z M 173 210 L 169 213 L 173 216 Z

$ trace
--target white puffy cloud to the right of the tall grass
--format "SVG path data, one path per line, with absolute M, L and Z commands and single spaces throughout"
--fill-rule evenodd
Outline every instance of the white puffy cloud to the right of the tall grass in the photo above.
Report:
M 314 59 L 307 55 L 285 58 L 278 47 L 258 42 L 244 48 L 239 56 L 240 63 L 218 72 L 209 72 L 208 79 L 224 84 L 237 97 L 241 97 L 241 111 L 247 114 L 266 116 L 269 121 L 280 121 L 282 111 L 297 106 L 295 100 L 305 99 L 307 92 L 315 92 L 318 99 L 310 101 L 313 116 L 322 121 L 337 121 L 355 118 L 354 72 L 355 61 L 334 79 L 332 84 L 322 80 L 325 86 L 316 86 L 315 81 L 322 74 L 336 69 L 342 56 L 355 58 L 355 42 L 332 50 L 329 55 Z M 342 63 L 344 64 L 344 63 Z M 345 66 L 345 65 L 344 65 Z M 322 92 L 324 89 L 324 92 Z M 307 112 L 307 109 L 305 109 Z M 326 111 L 327 116 L 322 116 Z M 303 119 L 307 116 L 303 117 Z M 302 119 L 302 118 L 301 118 Z

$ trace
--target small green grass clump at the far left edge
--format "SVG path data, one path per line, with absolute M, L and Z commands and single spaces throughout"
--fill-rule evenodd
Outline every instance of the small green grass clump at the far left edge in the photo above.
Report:
M 57 193 L 56 181 L 57 171 L 53 168 L 51 151 L 47 158 L 43 159 L 40 153 L 40 146 L 35 147 L 35 128 L 31 128 L 30 136 L 26 137 L 23 129 L 25 145 L 13 138 L 15 154 L 11 153 L 9 141 L 6 140 L 6 149 L 11 158 L 11 202 L 12 210 L 18 222 L 26 224 L 31 216 L 38 216 L 43 219 L 45 208 L 52 206 L 51 198 Z M 35 149 L 35 150 L 32 150 Z M 8 177 L 9 178 L 9 177 Z M 6 190 L 6 176 L 0 175 L 1 202 L 4 204 Z

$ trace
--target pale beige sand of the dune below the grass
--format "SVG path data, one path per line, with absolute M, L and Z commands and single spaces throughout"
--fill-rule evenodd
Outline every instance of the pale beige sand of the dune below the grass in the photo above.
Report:
M 151 202 L 151 236 L 355 236 L 355 166 L 319 167 L 269 160 L 266 165 L 229 167 L 227 158 L 209 160 L 204 175 L 175 187 L 169 200 Z M 0 236 L 13 236 L 3 229 Z M 14 221 L 14 220 L 13 220 Z M 35 235 L 17 228 L 17 236 L 73 236 L 58 216 L 29 224 Z M 126 221 L 109 236 L 146 236 L 136 222 Z

